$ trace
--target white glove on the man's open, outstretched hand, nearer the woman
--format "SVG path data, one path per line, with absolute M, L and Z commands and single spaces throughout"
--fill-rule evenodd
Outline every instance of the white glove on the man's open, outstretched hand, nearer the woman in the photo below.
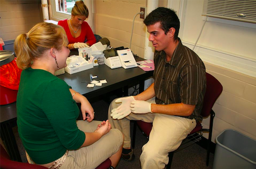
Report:
M 135 101 L 133 96 L 118 98 L 115 102 L 122 104 L 116 109 L 111 110 L 112 114 L 110 116 L 114 119 L 122 119 L 128 116 L 132 112 L 132 110 L 130 110 L 130 103 L 133 101 Z

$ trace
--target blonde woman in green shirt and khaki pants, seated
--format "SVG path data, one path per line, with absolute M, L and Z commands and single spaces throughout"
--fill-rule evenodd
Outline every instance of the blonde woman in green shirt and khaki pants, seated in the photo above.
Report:
M 70 53 L 61 26 L 39 23 L 15 40 L 23 69 L 17 95 L 17 125 L 29 163 L 48 168 L 96 168 L 120 160 L 123 135 L 107 121 L 93 121 L 86 97 L 54 74 Z M 81 103 L 82 121 L 76 121 Z M 86 113 L 88 114 L 86 116 Z M 110 141 L 111 140 L 111 141 Z

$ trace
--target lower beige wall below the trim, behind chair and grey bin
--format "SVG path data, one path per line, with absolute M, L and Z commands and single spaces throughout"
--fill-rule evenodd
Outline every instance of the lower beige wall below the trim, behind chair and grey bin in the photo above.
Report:
M 256 79 L 207 62 L 205 65 L 207 72 L 223 86 L 222 94 L 213 107 L 212 141 L 225 129 L 237 130 L 256 140 Z M 209 118 L 202 124 L 209 126 Z

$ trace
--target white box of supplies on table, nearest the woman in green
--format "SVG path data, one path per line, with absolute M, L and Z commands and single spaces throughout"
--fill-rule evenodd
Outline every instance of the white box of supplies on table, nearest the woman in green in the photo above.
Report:
M 73 74 L 90 68 L 93 68 L 93 63 L 89 64 L 88 61 L 82 57 L 73 55 L 67 59 L 67 67 L 65 67 L 65 72 Z

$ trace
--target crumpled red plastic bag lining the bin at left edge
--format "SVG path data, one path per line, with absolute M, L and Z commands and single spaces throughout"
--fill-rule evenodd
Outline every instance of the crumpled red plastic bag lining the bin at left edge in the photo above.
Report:
M 16 58 L 9 64 L 0 67 L 0 85 L 12 90 L 18 90 L 19 81 L 21 80 L 22 69 L 16 64 Z

